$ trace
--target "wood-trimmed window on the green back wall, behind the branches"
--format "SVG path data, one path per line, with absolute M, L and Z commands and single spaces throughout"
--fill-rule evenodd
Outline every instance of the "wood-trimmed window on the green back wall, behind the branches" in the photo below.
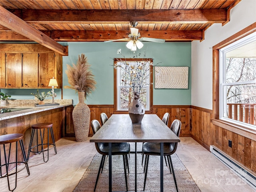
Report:
M 118 64 L 118 60 L 115 59 L 114 62 Z M 145 60 L 145 59 L 144 59 Z M 149 62 L 152 62 L 152 59 L 146 59 Z M 126 62 L 129 65 L 136 65 L 136 62 L 140 62 L 142 59 L 126 59 Z M 122 64 L 120 62 L 120 64 Z M 129 86 L 128 82 L 122 81 L 124 79 L 124 70 L 120 67 L 114 69 L 114 109 L 117 111 L 128 111 L 130 102 L 133 99 L 133 90 Z M 151 110 L 152 108 L 152 67 L 148 71 L 148 78 L 146 81 L 146 86 L 143 86 L 140 93 L 140 100 L 144 104 L 145 110 Z

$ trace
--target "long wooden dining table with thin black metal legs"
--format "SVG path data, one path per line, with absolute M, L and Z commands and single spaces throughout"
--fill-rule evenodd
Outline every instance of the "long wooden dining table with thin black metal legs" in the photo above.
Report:
M 163 157 L 165 142 L 180 142 L 180 138 L 156 114 L 144 114 L 141 123 L 132 123 L 129 114 L 112 114 L 102 127 L 92 136 L 90 142 L 106 142 L 109 144 L 109 192 L 112 192 L 112 143 L 135 143 L 135 183 L 137 192 L 137 142 L 160 143 L 160 192 L 164 191 Z M 156 178 L 157 179 L 157 178 Z

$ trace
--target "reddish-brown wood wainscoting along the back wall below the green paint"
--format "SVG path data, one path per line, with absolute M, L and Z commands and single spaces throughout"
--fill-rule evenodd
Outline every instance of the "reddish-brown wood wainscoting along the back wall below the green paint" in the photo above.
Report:
M 100 114 L 102 112 L 106 113 L 108 118 L 112 114 L 124 114 L 126 112 L 114 111 L 114 105 L 88 105 L 91 111 L 91 120 L 96 119 L 100 122 Z M 64 131 L 65 137 L 74 137 L 74 127 L 72 122 L 72 107 L 66 110 L 66 129 Z M 190 136 L 190 105 L 154 105 L 152 111 L 146 111 L 147 114 L 157 114 L 159 118 L 162 119 L 164 113 L 169 112 L 170 118 L 168 122 L 168 127 L 174 119 L 178 119 L 182 122 L 182 127 L 180 131 L 180 136 L 189 137 Z M 89 130 L 89 137 L 93 135 L 92 128 Z

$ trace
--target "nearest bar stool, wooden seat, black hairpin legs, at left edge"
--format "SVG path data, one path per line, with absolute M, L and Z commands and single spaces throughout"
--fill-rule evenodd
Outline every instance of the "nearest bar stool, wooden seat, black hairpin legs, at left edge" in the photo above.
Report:
M 23 145 L 23 134 L 6 134 L 6 135 L 1 135 L 0 136 L 0 145 L 3 145 L 4 147 L 4 160 L 5 160 L 5 164 L 2 164 L 1 162 L 1 150 L 0 150 L 0 178 L 4 178 L 4 177 L 7 177 L 7 181 L 8 181 L 8 188 L 10 191 L 14 191 L 14 189 L 16 189 L 17 187 L 17 173 L 22 171 L 24 168 L 27 169 L 27 172 L 28 172 L 28 175 L 30 175 L 30 172 L 29 172 L 29 168 L 28 168 L 28 161 L 26 159 L 26 154 L 25 154 L 25 150 L 24 150 L 24 145 Z M 20 142 L 20 148 L 22 150 L 22 155 L 23 155 L 23 159 L 24 161 L 18 161 L 18 141 Z M 12 156 L 10 156 L 11 154 L 11 146 L 12 146 L 12 143 L 16 142 L 16 161 L 15 162 L 10 162 L 10 157 L 12 158 Z M 10 144 L 9 145 L 9 154 L 8 154 L 8 158 L 6 156 L 6 144 Z M 18 170 L 18 163 L 24 163 L 25 166 L 24 168 L 22 168 L 21 170 Z M 10 164 L 15 164 L 15 172 L 14 173 L 11 173 L 9 174 L 10 171 L 9 170 L 9 165 Z M 2 174 L 2 166 L 5 166 L 6 168 L 6 174 L 3 175 Z M 9 181 L 9 176 L 13 175 L 13 174 L 16 174 L 15 176 L 15 188 L 14 189 L 10 189 L 10 181 Z

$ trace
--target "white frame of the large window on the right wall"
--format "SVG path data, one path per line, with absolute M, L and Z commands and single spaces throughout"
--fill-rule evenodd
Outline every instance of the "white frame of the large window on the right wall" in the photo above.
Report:
M 247 82 L 232 82 L 232 83 L 226 83 L 226 53 L 230 52 L 234 49 L 237 49 L 241 46 L 244 46 L 250 42 L 255 41 L 256 39 L 256 32 L 245 36 L 244 38 L 241 38 L 240 40 L 237 40 L 236 42 L 233 42 L 232 44 L 229 44 L 228 46 L 225 46 L 224 48 L 221 48 L 219 50 L 219 101 L 220 101 L 220 107 L 219 107 L 219 118 L 221 120 L 231 122 L 234 124 L 237 124 L 239 126 L 244 126 L 246 128 L 250 128 L 252 130 L 256 130 L 256 126 L 252 124 L 248 124 L 245 122 L 241 122 L 238 120 L 234 120 L 231 118 L 227 118 L 224 116 L 224 114 L 227 113 L 227 98 L 226 98 L 226 89 L 225 86 L 230 85 L 241 85 L 241 84 L 251 84 L 256 83 L 256 80 L 254 81 L 247 81 Z

